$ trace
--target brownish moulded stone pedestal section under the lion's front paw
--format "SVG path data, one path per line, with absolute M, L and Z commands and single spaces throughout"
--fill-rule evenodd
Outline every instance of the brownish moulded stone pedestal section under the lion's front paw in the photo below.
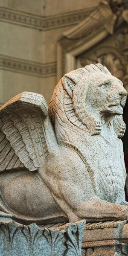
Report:
M 128 256 L 127 221 L 86 224 L 82 256 Z

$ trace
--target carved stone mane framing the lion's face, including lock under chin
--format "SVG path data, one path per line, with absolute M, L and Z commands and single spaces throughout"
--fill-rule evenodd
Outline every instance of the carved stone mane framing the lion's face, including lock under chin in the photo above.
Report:
M 66 134 L 60 134 L 60 126 L 61 131 L 65 127 L 66 129 L 69 128 L 69 130 L 72 129 L 72 131 L 76 130 L 76 133 L 81 129 L 91 135 L 100 134 L 102 128 L 101 120 L 94 116 L 93 113 L 90 113 L 86 104 L 86 96 L 90 87 L 90 84 L 86 81 L 86 76 L 89 73 L 111 75 L 102 64 L 90 64 L 65 74 L 55 87 L 49 102 L 49 115 L 52 116 L 58 143 L 60 140 L 64 141 L 65 137 L 69 137 L 68 134 L 67 136 Z M 112 98 L 113 95 L 109 96 L 108 100 L 111 101 L 113 100 Z M 122 138 L 125 133 L 125 123 L 122 115 L 113 116 L 113 127 L 117 137 Z

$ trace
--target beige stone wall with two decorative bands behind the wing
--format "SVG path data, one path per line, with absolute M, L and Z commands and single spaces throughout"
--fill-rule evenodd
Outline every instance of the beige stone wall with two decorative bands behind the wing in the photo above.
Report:
M 99 0 L 0 0 L 0 105 L 24 90 L 49 102 L 57 41 Z

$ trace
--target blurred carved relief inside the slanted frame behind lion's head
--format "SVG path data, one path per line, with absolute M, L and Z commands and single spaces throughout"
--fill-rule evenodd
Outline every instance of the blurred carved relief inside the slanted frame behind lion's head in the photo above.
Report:
M 103 43 L 77 56 L 77 67 L 102 63 L 120 79 L 128 91 L 128 26 L 123 26 Z

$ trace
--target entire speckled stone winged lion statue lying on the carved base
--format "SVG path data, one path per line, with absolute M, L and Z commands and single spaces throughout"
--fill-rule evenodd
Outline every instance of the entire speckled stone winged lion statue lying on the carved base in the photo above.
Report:
M 128 220 L 125 101 L 122 82 L 90 64 L 63 76 L 49 111 L 29 92 L 3 105 L 0 210 L 23 224 Z

